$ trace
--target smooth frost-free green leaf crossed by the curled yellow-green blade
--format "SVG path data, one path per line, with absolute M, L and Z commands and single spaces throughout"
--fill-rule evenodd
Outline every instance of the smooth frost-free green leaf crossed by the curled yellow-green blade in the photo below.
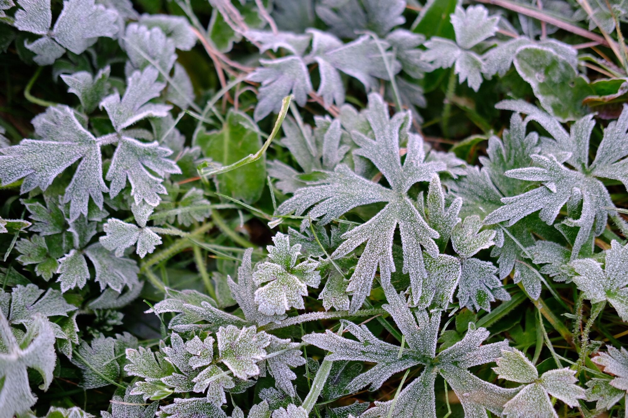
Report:
M 255 154 L 261 148 L 262 141 L 257 124 L 244 112 L 230 109 L 222 129 L 198 132 L 195 144 L 201 147 L 205 157 L 214 163 L 228 166 L 249 154 Z M 254 203 L 266 184 L 265 166 L 265 159 L 260 158 L 238 169 L 217 174 L 217 190 L 234 199 Z

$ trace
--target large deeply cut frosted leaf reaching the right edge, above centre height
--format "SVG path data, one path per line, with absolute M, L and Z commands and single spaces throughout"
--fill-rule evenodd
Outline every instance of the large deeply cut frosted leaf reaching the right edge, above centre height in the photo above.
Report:
M 502 198 L 506 205 L 490 213 L 484 222 L 490 225 L 507 221 L 507 225 L 514 225 L 527 215 L 540 210 L 539 218 L 552 225 L 566 203 L 570 215 L 563 220 L 560 227 L 578 228 L 571 252 L 571 259 L 577 258 L 583 245 L 588 244 L 592 248 L 592 235 L 597 236 L 604 231 L 609 216 L 604 207 L 614 207 L 609 192 L 597 177 L 628 183 L 628 178 L 624 179 L 623 174 L 625 161 L 628 160 L 622 159 L 628 154 L 628 146 L 625 145 L 628 143 L 628 111 L 624 107 L 619 120 L 611 122 L 604 130 L 597 155 L 593 163 L 589 164 L 589 137 L 595 125 L 592 115 L 574 122 L 570 132 L 567 132 L 554 117 L 534 105 L 505 100 L 497 104 L 497 107 L 527 114 L 524 123 L 530 120 L 538 122 L 553 139 L 544 138 L 541 142 L 541 153 L 530 156 L 534 166 L 511 169 L 504 173 L 517 180 L 540 183 L 539 187 L 521 195 Z M 565 163 L 576 169 L 566 167 Z M 625 225 L 619 217 L 612 216 L 615 223 L 622 227 Z

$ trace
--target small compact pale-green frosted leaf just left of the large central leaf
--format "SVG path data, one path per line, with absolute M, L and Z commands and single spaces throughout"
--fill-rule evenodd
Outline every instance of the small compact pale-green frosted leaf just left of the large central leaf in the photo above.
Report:
M 296 264 L 301 245 L 290 246 L 290 238 L 283 233 L 273 237 L 275 245 L 268 245 L 268 257 L 274 262 L 256 265 L 253 280 L 260 286 L 255 291 L 255 303 L 259 312 L 265 315 L 284 314 L 294 307 L 303 309 L 303 296 L 307 287 L 318 287 L 320 273 L 316 271 L 318 262 L 308 259 Z

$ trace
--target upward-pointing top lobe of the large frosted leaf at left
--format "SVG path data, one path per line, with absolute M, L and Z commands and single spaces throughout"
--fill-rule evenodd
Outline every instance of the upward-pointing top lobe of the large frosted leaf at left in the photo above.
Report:
M 133 125 L 146 117 L 163 117 L 172 107 L 164 104 L 147 103 L 160 95 L 165 83 L 157 82 L 159 72 L 156 68 L 146 67 L 142 72 L 133 72 L 127 80 L 127 88 L 122 100 L 116 92 L 105 97 L 100 103 L 111 119 L 116 131 Z

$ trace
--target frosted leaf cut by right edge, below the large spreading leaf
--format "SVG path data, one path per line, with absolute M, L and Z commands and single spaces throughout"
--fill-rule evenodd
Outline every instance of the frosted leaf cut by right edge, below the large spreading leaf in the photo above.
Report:
M 617 314 L 628 321 L 628 246 L 612 240 L 606 250 L 604 271 L 593 259 L 573 260 L 577 276 L 573 282 L 592 303 L 609 301 Z

